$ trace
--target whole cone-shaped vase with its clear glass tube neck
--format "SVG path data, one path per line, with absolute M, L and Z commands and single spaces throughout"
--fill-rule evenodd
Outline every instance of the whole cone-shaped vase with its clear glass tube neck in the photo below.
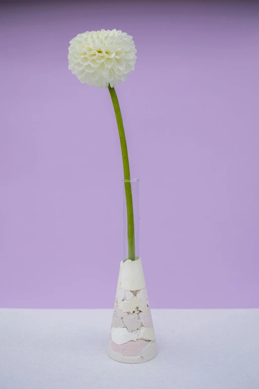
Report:
M 134 260 L 129 259 L 126 187 L 133 202 Z M 157 355 L 152 316 L 139 256 L 139 180 L 123 180 L 123 259 L 120 265 L 108 355 L 118 362 L 142 363 Z M 129 205 L 129 204 L 128 204 Z

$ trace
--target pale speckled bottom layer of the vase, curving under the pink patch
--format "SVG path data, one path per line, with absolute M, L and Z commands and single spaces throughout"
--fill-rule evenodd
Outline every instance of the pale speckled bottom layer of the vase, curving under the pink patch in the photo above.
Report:
M 141 351 L 140 354 L 136 355 L 125 355 L 118 353 L 113 350 L 111 340 L 109 341 L 108 355 L 110 358 L 117 362 L 123 363 L 143 363 L 150 361 L 157 355 L 156 341 L 147 342 L 146 347 Z

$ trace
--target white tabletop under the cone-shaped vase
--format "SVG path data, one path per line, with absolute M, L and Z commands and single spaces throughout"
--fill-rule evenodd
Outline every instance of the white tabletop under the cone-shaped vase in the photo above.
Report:
M 0 389 L 259 389 L 259 310 L 152 310 L 159 354 L 107 356 L 112 310 L 0 310 Z

